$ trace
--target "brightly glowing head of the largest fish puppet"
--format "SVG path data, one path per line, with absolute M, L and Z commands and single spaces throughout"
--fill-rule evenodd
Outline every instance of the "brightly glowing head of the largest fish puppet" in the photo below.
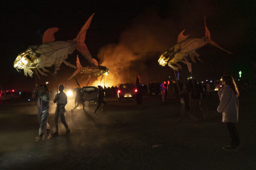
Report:
M 35 68 L 35 62 L 33 61 L 32 57 L 33 55 L 28 51 L 20 53 L 14 61 L 14 68 Z

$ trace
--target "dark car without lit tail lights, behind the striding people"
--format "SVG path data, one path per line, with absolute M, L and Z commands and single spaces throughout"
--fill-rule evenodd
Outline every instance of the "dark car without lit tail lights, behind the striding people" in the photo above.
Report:
M 97 102 L 99 89 L 95 86 L 82 87 L 82 94 L 84 102 Z

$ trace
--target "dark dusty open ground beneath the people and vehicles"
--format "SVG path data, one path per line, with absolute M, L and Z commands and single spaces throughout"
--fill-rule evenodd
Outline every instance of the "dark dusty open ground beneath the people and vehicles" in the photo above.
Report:
M 180 103 L 160 102 L 160 96 L 144 96 L 143 105 L 118 104 L 106 99 L 106 113 L 93 115 L 95 104 L 70 113 L 72 133 L 35 141 L 37 107 L 32 102 L 0 104 L 0 169 L 49 170 L 255 170 L 255 92 L 239 96 L 239 152 L 222 150 L 229 144 L 227 127 L 217 113 L 218 97 L 204 97 L 205 121 L 177 122 Z M 54 131 L 55 105 L 50 103 L 49 124 Z

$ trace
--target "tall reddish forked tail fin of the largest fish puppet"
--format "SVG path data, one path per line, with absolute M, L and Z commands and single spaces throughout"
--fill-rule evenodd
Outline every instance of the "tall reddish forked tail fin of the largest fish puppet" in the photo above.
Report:
M 77 50 L 87 59 L 91 60 L 91 55 L 90 52 L 86 46 L 86 44 L 84 43 L 85 40 L 85 36 L 86 36 L 86 31 L 90 26 L 90 23 L 92 21 L 94 13 L 90 16 L 90 18 L 86 21 L 86 23 L 84 24 L 84 26 L 81 28 L 81 30 L 79 31 L 79 33 L 77 34 L 76 38 L 74 39 L 77 42 Z

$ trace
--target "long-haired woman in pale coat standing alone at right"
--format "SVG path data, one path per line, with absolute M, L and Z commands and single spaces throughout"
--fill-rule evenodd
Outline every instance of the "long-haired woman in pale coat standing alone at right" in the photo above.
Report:
M 224 150 L 238 150 L 240 139 L 236 130 L 238 122 L 238 96 L 239 91 L 236 87 L 236 82 L 230 75 L 221 77 L 223 87 L 218 91 L 220 103 L 217 111 L 222 113 L 222 122 L 227 123 L 228 130 L 231 136 L 231 144 L 224 146 Z

